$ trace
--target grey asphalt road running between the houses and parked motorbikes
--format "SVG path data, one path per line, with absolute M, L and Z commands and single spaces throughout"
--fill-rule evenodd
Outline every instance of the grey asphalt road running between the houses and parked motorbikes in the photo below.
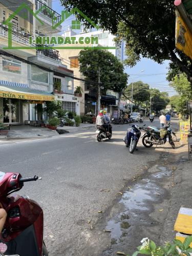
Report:
M 153 125 L 159 126 L 159 120 Z M 44 209 L 50 256 L 99 255 L 90 249 L 94 243 L 91 229 L 104 221 L 118 191 L 138 169 L 159 158 L 155 147 L 144 148 L 141 142 L 131 155 L 122 141 L 126 130 L 126 124 L 113 125 L 113 138 L 101 143 L 96 142 L 92 129 L 0 145 L 1 172 L 42 177 L 26 183 L 19 194 L 28 195 Z M 110 191 L 103 193 L 102 189 Z M 98 247 L 99 243 L 104 241 Z

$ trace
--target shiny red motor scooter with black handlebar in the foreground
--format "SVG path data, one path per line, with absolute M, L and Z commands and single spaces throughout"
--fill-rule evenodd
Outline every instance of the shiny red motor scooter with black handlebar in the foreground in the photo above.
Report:
M 7 211 L 7 220 L 1 234 L 0 255 L 48 256 L 43 241 L 42 209 L 31 199 L 12 194 L 20 190 L 24 182 L 40 179 L 37 176 L 22 178 L 19 173 L 0 172 L 0 202 Z

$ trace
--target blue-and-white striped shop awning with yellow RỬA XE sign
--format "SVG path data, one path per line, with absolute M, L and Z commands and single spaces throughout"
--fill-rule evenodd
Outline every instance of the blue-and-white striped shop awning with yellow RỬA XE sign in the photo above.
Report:
M 34 101 L 52 101 L 55 99 L 51 93 L 30 89 L 26 84 L 2 80 L 0 80 L 0 97 Z

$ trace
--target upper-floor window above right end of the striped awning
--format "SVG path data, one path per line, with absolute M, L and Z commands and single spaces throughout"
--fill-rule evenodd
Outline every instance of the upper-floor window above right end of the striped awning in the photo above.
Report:
M 31 80 L 35 82 L 49 83 L 49 72 L 31 65 Z

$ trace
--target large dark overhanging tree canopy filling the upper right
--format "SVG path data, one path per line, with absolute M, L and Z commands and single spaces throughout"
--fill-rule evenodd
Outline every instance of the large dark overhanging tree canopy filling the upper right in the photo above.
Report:
M 68 10 L 79 8 L 93 22 L 126 42 L 125 63 L 134 66 L 141 56 L 158 63 L 172 61 L 192 81 L 192 60 L 175 46 L 175 6 L 173 0 L 60 0 Z M 87 27 L 90 23 L 76 16 Z

